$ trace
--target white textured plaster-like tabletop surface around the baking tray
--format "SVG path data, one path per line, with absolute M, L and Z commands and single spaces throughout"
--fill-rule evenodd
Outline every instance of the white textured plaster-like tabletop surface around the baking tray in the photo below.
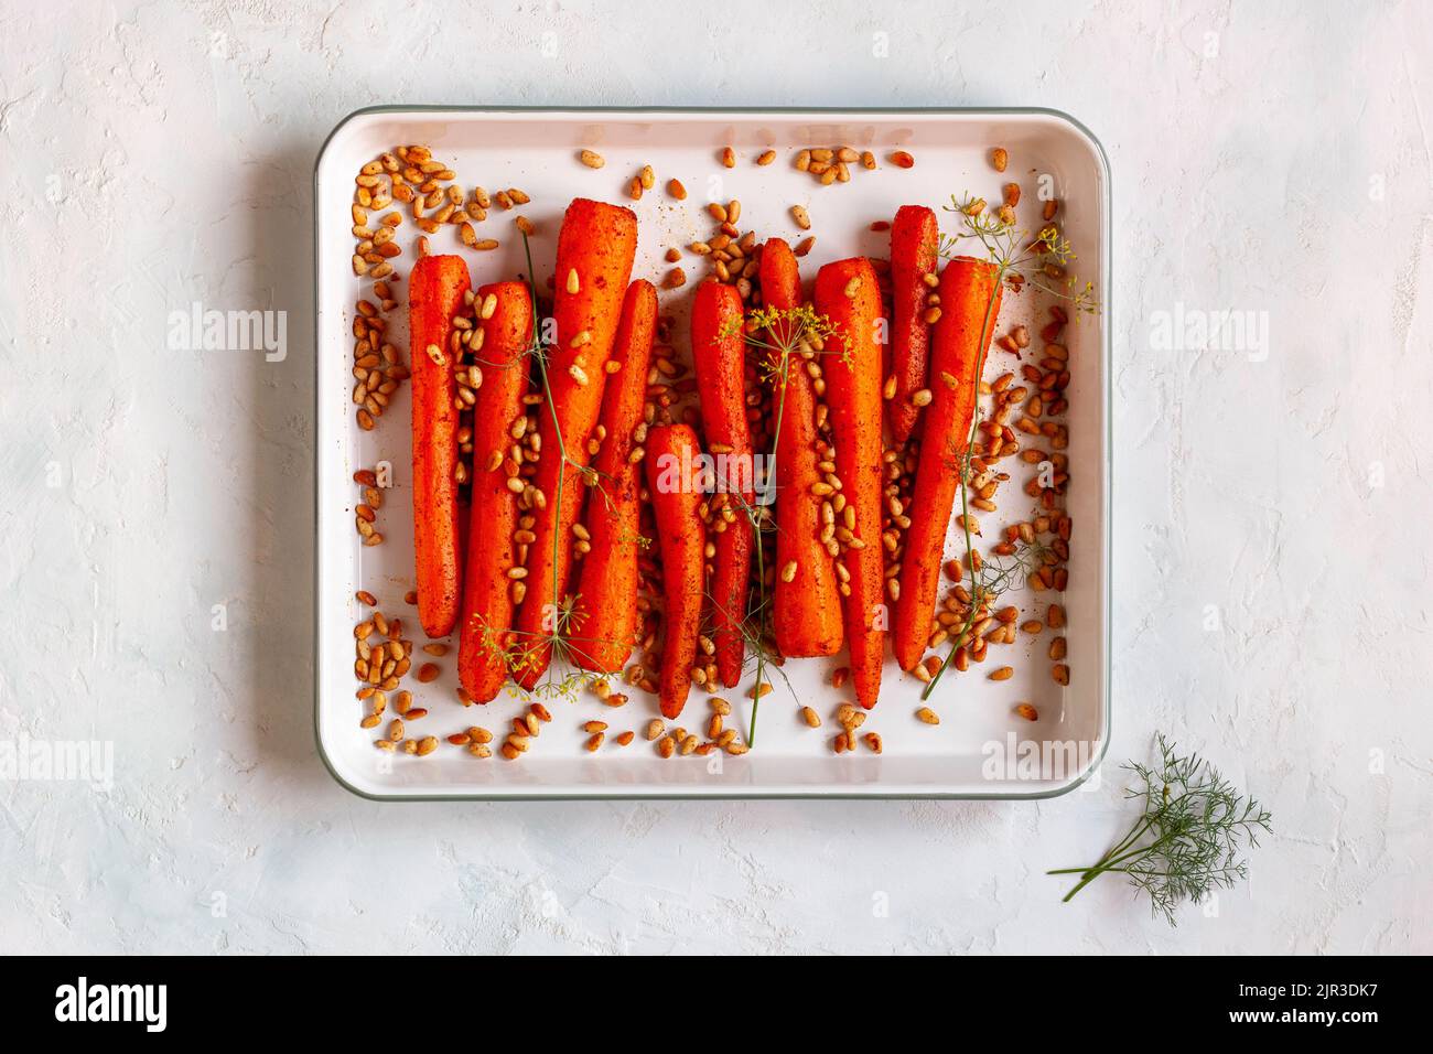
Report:
M 113 740 L 116 784 L 0 782 L 0 949 L 1433 951 L 1429 7 L 695 7 L 6 3 L 0 739 Z M 1088 123 L 1116 228 L 1103 790 L 396 806 L 332 783 L 310 178 L 380 102 Z M 168 351 L 193 300 L 287 310 L 288 360 Z M 1267 311 L 1267 360 L 1152 350 L 1176 303 Z M 1060 905 L 1040 875 L 1123 827 L 1112 763 L 1155 728 L 1277 826 L 1178 931 L 1115 879 Z

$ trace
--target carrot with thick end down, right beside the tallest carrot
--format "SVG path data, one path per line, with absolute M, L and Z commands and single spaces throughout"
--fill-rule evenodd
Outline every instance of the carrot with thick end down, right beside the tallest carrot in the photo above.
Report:
M 573 661 L 583 670 L 615 674 L 632 654 L 642 490 L 641 456 L 633 460 L 632 455 L 642 447 L 636 429 L 642 424 L 655 336 L 656 290 L 638 280 L 628 285 L 612 346 L 612 361 L 620 369 L 602 396 L 606 437 L 593 462 L 602 490 L 588 498 L 592 551 L 582 562 L 573 630 L 579 638 Z

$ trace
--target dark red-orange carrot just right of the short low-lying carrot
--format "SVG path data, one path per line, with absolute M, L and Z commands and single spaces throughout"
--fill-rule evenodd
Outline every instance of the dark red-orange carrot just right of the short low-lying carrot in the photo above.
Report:
M 747 427 L 747 338 L 741 294 L 734 285 L 702 283 L 692 304 L 692 360 L 702 404 L 702 430 L 712 455 L 716 493 L 712 508 L 712 641 L 716 673 L 728 688 L 741 680 L 742 622 L 751 579 L 754 526 L 752 457 Z M 731 513 L 725 512 L 729 509 Z

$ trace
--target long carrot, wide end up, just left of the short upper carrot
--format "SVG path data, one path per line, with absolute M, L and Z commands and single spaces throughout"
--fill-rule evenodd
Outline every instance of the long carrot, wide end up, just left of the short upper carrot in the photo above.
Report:
M 851 652 L 851 683 L 857 701 L 876 706 L 888 615 L 881 594 L 881 346 L 877 327 L 881 294 L 876 271 L 864 257 L 827 264 L 815 277 L 815 310 L 835 333 L 823 356 L 835 473 L 854 526 L 838 528 L 845 546 L 841 561 L 850 572 L 845 597 L 845 642 Z M 843 511 L 844 515 L 844 511 Z

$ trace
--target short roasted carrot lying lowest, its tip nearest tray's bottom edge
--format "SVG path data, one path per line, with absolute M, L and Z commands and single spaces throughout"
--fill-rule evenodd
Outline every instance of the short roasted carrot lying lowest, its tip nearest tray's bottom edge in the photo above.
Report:
M 665 598 L 658 681 L 665 717 L 676 717 L 686 706 L 701 631 L 706 528 L 699 509 L 701 485 L 695 479 L 699 455 L 696 433 L 686 424 L 663 424 L 648 433 L 646 480 L 656 515 Z

